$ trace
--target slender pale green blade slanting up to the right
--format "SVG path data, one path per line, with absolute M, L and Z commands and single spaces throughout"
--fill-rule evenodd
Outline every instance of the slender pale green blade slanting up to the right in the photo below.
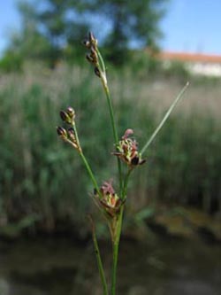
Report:
M 181 91 L 179 92 L 179 95 L 174 99 L 173 103 L 171 104 L 169 110 L 165 113 L 163 120 L 161 120 L 161 122 L 159 123 L 159 125 L 157 126 L 157 128 L 155 129 L 154 133 L 152 134 L 152 136 L 149 137 L 148 141 L 146 144 L 144 144 L 143 148 L 141 149 L 141 154 L 146 151 L 149 147 L 149 145 L 153 142 L 153 140 L 155 139 L 156 135 L 158 134 L 158 132 L 160 131 L 160 129 L 164 126 L 165 121 L 168 119 L 168 117 L 171 114 L 171 111 L 174 109 L 175 105 L 177 105 L 177 103 L 179 102 L 179 99 L 181 97 L 183 97 L 184 92 L 187 90 L 187 87 L 189 86 L 189 82 L 187 82 L 187 84 L 184 86 L 183 89 L 181 89 Z

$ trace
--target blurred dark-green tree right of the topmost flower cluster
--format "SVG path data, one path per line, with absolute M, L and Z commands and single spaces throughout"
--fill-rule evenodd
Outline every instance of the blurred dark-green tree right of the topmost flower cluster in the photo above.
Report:
M 72 1 L 74 2 L 74 1 Z M 159 20 L 163 18 L 167 0 L 86 0 L 87 10 L 105 19 L 109 30 L 105 32 L 103 44 L 113 62 L 122 63 L 127 59 L 130 47 L 157 49 L 162 37 Z M 104 32 L 103 32 L 104 33 Z

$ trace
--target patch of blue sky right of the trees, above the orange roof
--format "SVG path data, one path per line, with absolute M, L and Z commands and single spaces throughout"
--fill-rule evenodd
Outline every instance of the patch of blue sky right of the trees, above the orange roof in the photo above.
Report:
M 220 0 L 171 0 L 161 25 L 165 50 L 221 55 Z

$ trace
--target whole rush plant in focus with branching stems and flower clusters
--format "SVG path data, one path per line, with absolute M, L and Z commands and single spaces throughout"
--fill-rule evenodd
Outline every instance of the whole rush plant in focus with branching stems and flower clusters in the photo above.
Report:
M 57 134 L 66 143 L 70 144 L 74 150 L 76 150 L 80 158 L 82 159 L 83 165 L 88 171 L 88 175 L 94 186 L 92 192 L 92 198 L 99 211 L 102 213 L 104 220 L 107 222 L 108 228 L 110 229 L 110 237 L 112 243 L 112 270 L 110 277 L 110 288 L 107 283 L 106 276 L 103 269 L 103 261 L 101 258 L 99 246 L 95 235 L 95 224 L 92 217 L 89 217 L 92 228 L 92 237 L 95 246 L 95 257 L 103 284 L 103 295 L 115 295 L 116 294 L 116 279 L 117 279 L 117 267 L 118 267 L 118 248 L 119 240 L 122 229 L 123 214 L 126 206 L 126 195 L 127 195 L 127 184 L 130 176 L 135 168 L 139 168 L 146 162 L 143 158 L 145 152 L 149 148 L 149 145 L 153 142 L 160 129 L 164 126 L 165 121 L 171 114 L 171 111 L 177 105 L 180 98 L 183 96 L 187 85 L 179 92 L 171 104 L 167 113 L 165 113 L 163 120 L 156 127 L 144 144 L 139 150 L 138 143 L 133 136 L 133 129 L 127 128 L 122 136 L 118 136 L 118 128 L 115 120 L 114 109 L 110 97 L 110 89 L 107 81 L 106 66 L 103 61 L 102 54 L 98 49 L 98 42 L 92 33 L 88 34 L 88 38 L 84 40 L 84 45 L 88 49 L 87 59 L 88 62 L 94 67 L 95 75 L 100 79 L 103 90 L 107 99 L 107 105 L 110 113 L 110 124 L 112 128 L 112 135 L 115 149 L 111 151 L 112 156 L 116 157 L 118 162 L 118 184 L 117 190 L 113 187 L 112 177 L 111 181 L 103 182 L 98 184 L 95 178 L 95 174 L 88 163 L 88 159 L 84 154 L 84 151 L 80 145 L 80 136 L 78 135 L 78 129 L 76 126 L 76 115 L 74 109 L 69 106 L 65 111 L 60 111 L 60 117 L 64 122 L 63 127 L 57 127 Z

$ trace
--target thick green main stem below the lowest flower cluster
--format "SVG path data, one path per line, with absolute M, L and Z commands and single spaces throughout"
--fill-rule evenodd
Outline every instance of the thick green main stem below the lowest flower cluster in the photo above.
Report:
M 112 248 L 113 248 L 113 264 L 112 264 L 112 274 L 111 274 L 111 295 L 116 294 L 116 282 L 117 282 L 117 268 L 118 268 L 118 250 L 119 250 L 119 239 L 122 229 L 122 220 L 124 214 L 124 205 L 121 206 L 120 212 L 118 215 L 117 221 L 117 231 L 116 235 L 112 241 Z

